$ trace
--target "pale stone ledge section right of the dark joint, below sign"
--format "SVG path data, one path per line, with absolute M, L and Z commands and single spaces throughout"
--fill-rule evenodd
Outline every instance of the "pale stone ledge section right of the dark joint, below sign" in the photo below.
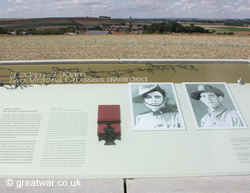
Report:
M 250 193 L 250 176 L 127 180 L 128 193 Z

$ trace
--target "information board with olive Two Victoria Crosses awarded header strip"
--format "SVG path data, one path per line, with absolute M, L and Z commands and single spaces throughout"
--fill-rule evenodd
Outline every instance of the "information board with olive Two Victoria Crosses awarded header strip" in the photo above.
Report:
M 250 174 L 249 72 L 248 64 L 2 65 L 0 176 Z M 216 96 L 206 106 L 208 93 Z M 215 122 L 223 105 L 236 126 L 201 125 L 217 103 Z M 98 139 L 100 105 L 120 106 L 115 145 Z

